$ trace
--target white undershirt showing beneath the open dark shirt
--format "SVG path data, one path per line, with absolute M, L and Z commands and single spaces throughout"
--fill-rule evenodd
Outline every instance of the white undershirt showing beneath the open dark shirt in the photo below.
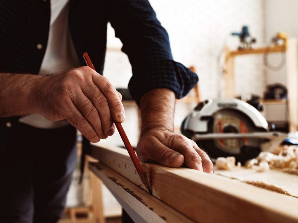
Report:
M 69 0 L 51 0 L 49 39 L 39 70 L 40 75 L 57 74 L 80 66 L 68 27 L 68 2 Z M 19 121 L 47 129 L 69 125 L 67 120 L 52 122 L 40 114 L 27 115 Z

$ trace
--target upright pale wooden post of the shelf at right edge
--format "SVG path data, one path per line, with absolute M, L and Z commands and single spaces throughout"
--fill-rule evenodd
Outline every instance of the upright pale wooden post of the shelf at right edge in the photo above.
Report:
M 289 131 L 298 131 L 298 55 L 297 39 L 288 40 L 286 52 Z

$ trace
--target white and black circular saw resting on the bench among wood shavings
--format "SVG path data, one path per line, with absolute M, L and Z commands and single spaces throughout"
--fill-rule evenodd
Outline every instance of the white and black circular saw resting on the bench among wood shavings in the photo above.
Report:
M 269 132 L 263 115 L 235 98 L 199 103 L 182 122 L 181 132 L 212 158 L 235 156 L 242 164 L 261 151 L 273 151 L 287 136 Z

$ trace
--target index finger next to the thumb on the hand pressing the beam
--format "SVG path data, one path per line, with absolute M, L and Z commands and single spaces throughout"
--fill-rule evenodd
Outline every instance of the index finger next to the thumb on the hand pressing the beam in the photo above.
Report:
M 182 135 L 168 135 L 169 147 L 184 156 L 184 165 L 203 172 L 202 158 L 195 151 L 189 139 Z

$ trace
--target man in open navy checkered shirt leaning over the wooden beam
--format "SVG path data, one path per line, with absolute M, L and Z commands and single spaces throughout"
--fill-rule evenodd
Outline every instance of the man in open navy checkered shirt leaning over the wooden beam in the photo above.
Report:
M 173 61 L 148 0 L 2 0 L 0 15 L 0 222 L 57 222 L 76 163 L 75 128 L 98 142 L 114 134 L 113 119 L 125 120 L 121 95 L 100 75 L 108 21 L 132 65 L 139 159 L 212 172 L 206 153 L 173 133 L 175 97 L 198 79 Z M 99 73 L 84 66 L 83 52 Z

